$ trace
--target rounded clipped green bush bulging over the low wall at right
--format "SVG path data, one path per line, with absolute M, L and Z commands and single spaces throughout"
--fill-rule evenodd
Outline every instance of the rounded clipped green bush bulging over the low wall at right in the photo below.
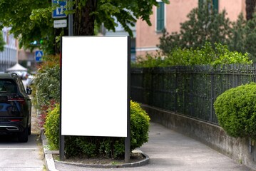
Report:
M 226 90 L 214 103 L 220 126 L 235 138 L 256 138 L 256 83 Z

